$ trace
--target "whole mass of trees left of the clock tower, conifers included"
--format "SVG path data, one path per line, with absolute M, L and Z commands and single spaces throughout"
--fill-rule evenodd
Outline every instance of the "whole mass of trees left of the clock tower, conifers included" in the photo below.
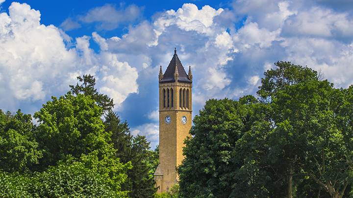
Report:
M 93 76 L 77 79 L 74 94 L 34 114 L 38 127 L 21 110 L 0 110 L 0 197 L 153 197 L 158 153 L 130 134 Z

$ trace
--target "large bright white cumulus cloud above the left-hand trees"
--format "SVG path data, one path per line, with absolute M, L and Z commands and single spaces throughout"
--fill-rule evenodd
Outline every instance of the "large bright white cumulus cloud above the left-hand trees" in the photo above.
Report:
M 137 71 L 119 62 L 113 53 L 97 54 L 90 48 L 91 37 L 71 38 L 53 25 L 40 24 L 40 12 L 28 4 L 13 2 L 9 14 L 0 13 L 0 109 L 15 110 L 19 103 L 42 101 L 58 96 L 76 84 L 76 76 L 92 74 L 105 94 L 120 105 L 129 93 L 137 92 Z M 105 40 L 92 34 L 102 51 Z M 3 75 L 6 74 L 6 75 Z M 101 79 L 101 81 L 99 81 Z M 40 107 L 37 107 L 40 108 Z

